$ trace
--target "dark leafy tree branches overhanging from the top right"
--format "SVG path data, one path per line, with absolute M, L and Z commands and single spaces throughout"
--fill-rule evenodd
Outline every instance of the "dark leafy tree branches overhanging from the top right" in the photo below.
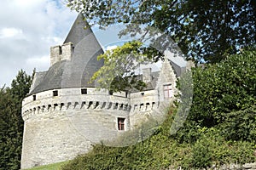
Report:
M 218 62 L 256 42 L 253 0 L 68 0 L 67 6 L 84 14 L 92 24 L 125 24 L 120 36 L 134 36 L 143 30 L 150 35 L 150 28 L 158 29 L 197 62 Z

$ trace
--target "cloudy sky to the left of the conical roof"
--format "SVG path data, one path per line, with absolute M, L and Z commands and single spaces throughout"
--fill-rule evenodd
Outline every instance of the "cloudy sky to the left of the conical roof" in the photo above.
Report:
M 20 69 L 49 68 L 49 48 L 64 42 L 77 14 L 63 0 L 2 0 L 0 88 Z

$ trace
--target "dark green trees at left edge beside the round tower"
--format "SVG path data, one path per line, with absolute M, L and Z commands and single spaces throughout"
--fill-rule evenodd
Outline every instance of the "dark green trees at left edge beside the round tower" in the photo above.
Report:
M 21 101 L 32 77 L 19 71 L 11 88 L 0 89 L 0 169 L 19 169 L 23 135 Z

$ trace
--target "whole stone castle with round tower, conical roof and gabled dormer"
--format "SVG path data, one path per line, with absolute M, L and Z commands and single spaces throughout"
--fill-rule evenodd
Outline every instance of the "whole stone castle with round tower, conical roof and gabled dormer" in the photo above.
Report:
M 90 77 L 102 67 L 103 50 L 82 14 L 61 46 L 50 48 L 48 71 L 37 72 L 22 102 L 24 136 L 21 168 L 73 159 L 91 144 L 114 139 L 137 126 L 177 94 L 186 69 L 166 57 L 160 71 L 143 69 L 143 91 L 112 93 Z M 108 74 L 108 73 L 106 73 Z

